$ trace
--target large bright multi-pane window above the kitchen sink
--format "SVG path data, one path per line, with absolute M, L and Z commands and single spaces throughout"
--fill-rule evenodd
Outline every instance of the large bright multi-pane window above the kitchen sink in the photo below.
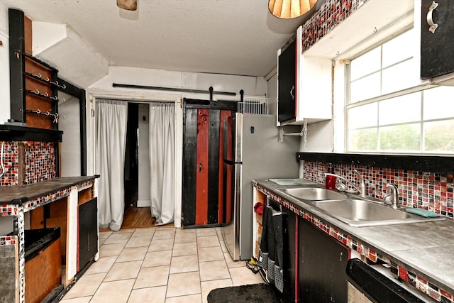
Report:
M 454 87 L 409 89 L 413 39 L 411 29 L 350 61 L 348 152 L 454 152 Z

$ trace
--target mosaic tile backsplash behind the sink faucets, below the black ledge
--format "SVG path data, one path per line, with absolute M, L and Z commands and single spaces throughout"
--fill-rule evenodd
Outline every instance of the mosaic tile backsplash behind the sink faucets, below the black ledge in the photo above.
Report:
M 304 161 L 304 179 L 325 183 L 325 172 L 328 165 L 324 162 Z M 438 172 L 420 172 L 413 170 L 397 170 L 394 168 L 365 167 L 360 165 L 333 165 L 334 173 L 359 186 L 358 170 L 367 184 L 367 193 L 377 199 L 387 194 L 386 184 L 399 187 L 399 203 L 434 211 L 442 216 L 453 218 L 453 174 Z M 342 180 L 337 180 L 341 182 Z

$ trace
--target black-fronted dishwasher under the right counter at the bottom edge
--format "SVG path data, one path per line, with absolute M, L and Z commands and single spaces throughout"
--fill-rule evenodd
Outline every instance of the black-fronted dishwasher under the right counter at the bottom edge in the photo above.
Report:
M 348 302 L 431 302 L 430 299 L 420 299 L 357 258 L 348 260 L 347 280 Z

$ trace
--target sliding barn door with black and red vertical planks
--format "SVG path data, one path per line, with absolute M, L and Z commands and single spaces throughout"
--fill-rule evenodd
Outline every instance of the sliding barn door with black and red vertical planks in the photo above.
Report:
M 184 108 L 183 226 L 223 223 L 223 120 L 236 102 Z M 223 106 L 222 106 L 223 105 Z

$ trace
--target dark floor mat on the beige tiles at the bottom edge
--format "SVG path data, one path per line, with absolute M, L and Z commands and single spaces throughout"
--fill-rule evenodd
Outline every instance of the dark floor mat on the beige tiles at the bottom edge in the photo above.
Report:
M 280 303 L 275 292 L 266 284 L 242 285 L 211 290 L 208 303 Z

